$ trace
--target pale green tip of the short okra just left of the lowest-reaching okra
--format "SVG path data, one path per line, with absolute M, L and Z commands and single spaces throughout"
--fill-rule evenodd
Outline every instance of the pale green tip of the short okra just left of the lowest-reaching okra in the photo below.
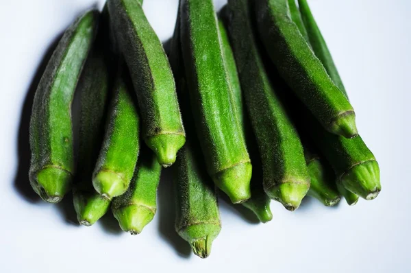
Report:
M 155 209 L 140 204 L 129 204 L 112 211 L 121 229 L 131 235 L 140 234 L 155 215 Z

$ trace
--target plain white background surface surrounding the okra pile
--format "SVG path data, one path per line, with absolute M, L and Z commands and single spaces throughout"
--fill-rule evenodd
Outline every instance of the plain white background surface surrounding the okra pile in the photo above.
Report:
M 269 224 L 222 202 L 223 229 L 206 260 L 173 230 L 169 172 L 158 214 L 136 237 L 122 233 L 112 215 L 77 226 L 70 197 L 45 204 L 29 187 L 36 71 L 53 40 L 75 16 L 101 8 L 98 2 L 0 0 L 0 272 L 411 272 L 411 1 L 309 1 L 379 161 L 379 197 L 334 209 L 308 199 L 293 213 L 273 202 Z M 146 0 L 144 8 L 160 39 L 169 38 L 177 0 Z

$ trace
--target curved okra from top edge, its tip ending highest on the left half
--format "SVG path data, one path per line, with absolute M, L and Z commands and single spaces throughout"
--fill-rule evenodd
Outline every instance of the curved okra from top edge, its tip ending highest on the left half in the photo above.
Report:
M 175 82 L 164 49 L 145 16 L 142 1 L 109 0 L 116 43 L 122 51 L 138 97 L 145 143 L 168 167 L 186 136 Z

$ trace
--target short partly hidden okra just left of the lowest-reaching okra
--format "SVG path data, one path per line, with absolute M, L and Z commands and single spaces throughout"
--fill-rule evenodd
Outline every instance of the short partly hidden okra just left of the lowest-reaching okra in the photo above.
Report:
M 161 165 L 155 154 L 142 145 L 132 182 L 127 191 L 114 198 L 112 212 L 122 230 L 140 234 L 157 211 L 157 187 Z

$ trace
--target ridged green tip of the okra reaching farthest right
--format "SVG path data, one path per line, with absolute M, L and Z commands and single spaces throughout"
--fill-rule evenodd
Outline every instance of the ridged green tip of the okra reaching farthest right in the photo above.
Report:
M 366 161 L 351 167 L 341 177 L 341 183 L 365 200 L 373 200 L 381 191 L 379 182 L 379 165 L 377 161 Z

